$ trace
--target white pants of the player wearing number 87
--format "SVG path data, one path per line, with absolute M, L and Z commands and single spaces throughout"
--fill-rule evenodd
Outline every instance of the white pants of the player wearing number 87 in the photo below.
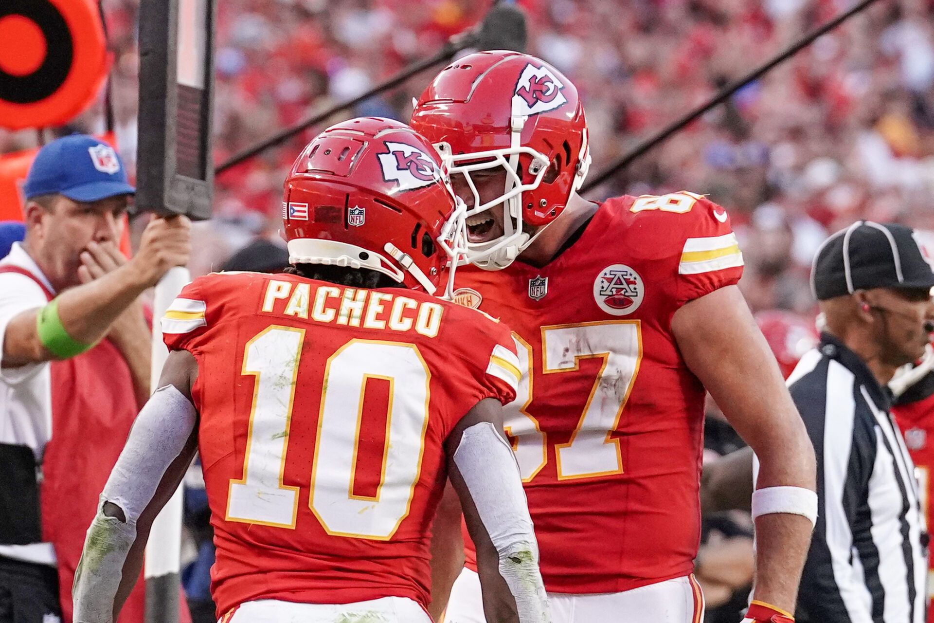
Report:
M 619 593 L 548 593 L 552 623 L 703 623 L 703 593 L 693 575 Z M 464 569 L 451 588 L 443 623 L 487 623 L 480 577 Z

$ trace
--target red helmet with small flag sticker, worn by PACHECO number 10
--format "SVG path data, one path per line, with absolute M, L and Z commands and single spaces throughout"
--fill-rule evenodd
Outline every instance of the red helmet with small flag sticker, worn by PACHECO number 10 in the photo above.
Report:
M 446 164 L 412 128 L 344 121 L 308 143 L 286 179 L 289 262 L 368 268 L 434 294 L 449 260 L 453 283 L 466 210 Z

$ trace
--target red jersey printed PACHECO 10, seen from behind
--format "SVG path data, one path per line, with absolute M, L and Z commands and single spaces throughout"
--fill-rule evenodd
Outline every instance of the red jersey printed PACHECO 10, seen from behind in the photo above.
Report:
M 163 333 L 198 362 L 219 613 L 427 604 L 443 443 L 481 400 L 515 398 L 508 329 L 412 290 L 236 273 L 186 286 Z

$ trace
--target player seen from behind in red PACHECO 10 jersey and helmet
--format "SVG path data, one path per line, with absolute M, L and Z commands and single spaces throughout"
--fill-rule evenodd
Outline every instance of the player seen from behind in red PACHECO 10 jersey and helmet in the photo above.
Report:
M 488 619 L 549 620 L 502 434 L 520 376 L 512 337 L 432 296 L 463 247 L 464 209 L 402 123 L 349 120 L 308 144 L 285 183 L 288 274 L 199 277 L 162 320 L 171 353 L 88 531 L 77 621 L 119 612 L 196 446 L 225 623 L 430 621 L 447 476 Z

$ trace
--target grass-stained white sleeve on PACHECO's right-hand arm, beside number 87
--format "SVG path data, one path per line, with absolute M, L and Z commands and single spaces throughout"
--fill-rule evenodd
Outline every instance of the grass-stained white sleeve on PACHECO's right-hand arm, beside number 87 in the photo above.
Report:
M 467 428 L 454 452 L 477 513 L 500 556 L 521 623 L 548 623 L 548 601 L 538 569 L 538 543 L 513 450 L 489 422 Z

